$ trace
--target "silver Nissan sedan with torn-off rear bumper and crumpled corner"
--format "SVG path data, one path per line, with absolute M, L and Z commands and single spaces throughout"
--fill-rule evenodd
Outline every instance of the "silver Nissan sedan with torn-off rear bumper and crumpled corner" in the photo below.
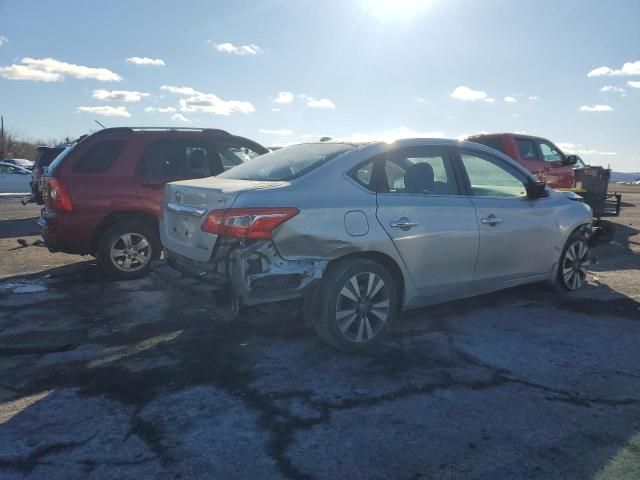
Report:
M 402 309 L 539 281 L 580 288 L 591 222 L 482 145 L 309 143 L 168 184 L 162 268 L 236 311 L 302 300 L 318 334 L 353 351 Z

